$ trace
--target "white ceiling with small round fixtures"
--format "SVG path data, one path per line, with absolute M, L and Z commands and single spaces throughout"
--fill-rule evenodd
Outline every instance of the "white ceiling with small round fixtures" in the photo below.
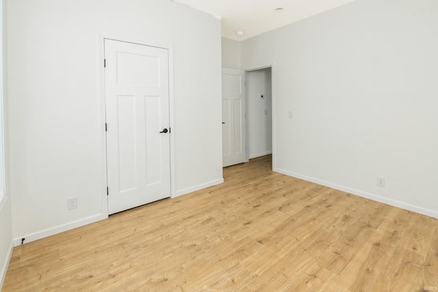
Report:
M 245 40 L 355 0 L 173 0 L 222 19 L 222 36 Z M 275 12 L 283 8 L 283 12 Z M 237 36 L 243 31 L 243 36 Z

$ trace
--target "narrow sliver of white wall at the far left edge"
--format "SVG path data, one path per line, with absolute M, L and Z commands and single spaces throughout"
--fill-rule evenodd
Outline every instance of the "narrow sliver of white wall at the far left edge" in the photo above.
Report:
M 6 3 L 0 0 L 0 15 L 1 15 L 1 63 L 2 63 L 2 79 L 3 83 L 0 85 L 2 97 L 3 97 L 3 151 L 4 157 L 4 186 L 0 191 L 0 290 L 3 284 L 3 280 L 6 276 L 6 270 L 8 269 L 8 263 L 12 254 L 12 214 L 11 214 L 11 200 L 10 200 L 10 187 L 9 187 L 9 161 L 8 161 L 8 90 L 7 90 L 7 75 L 5 74 L 7 63 L 7 51 L 5 49 L 5 31 L 6 27 Z

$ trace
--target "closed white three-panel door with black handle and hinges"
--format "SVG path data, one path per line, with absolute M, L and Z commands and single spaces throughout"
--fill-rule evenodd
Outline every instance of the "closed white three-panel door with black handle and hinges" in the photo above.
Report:
M 105 40 L 108 213 L 170 197 L 168 50 Z

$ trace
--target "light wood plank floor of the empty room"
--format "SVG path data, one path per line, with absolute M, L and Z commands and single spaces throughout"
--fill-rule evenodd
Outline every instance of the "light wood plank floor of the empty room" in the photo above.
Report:
M 272 172 L 14 248 L 3 291 L 424 291 L 438 220 Z

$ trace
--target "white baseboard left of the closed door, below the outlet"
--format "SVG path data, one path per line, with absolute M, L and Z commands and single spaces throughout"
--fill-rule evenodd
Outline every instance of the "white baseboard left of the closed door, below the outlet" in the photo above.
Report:
M 21 239 L 23 239 L 23 238 L 25 239 L 23 241 L 23 243 L 28 243 L 28 242 L 31 242 L 31 241 L 36 241 L 38 239 L 42 239 L 44 237 L 49 237 L 51 235 L 55 235 L 57 233 L 63 233 L 64 231 L 71 230 L 71 229 L 74 229 L 74 228 L 77 228 L 77 227 L 80 227 L 80 226 L 84 226 L 84 225 L 87 225 L 87 224 L 90 224 L 90 223 L 94 223 L 94 222 L 103 220 L 105 218 L 107 218 L 107 216 L 105 216 L 103 214 L 96 214 L 96 215 L 92 215 L 90 217 L 83 218 L 81 220 L 77 220 L 77 221 L 74 221 L 74 222 L 69 222 L 67 224 L 58 225 L 58 226 L 55 226 L 53 228 L 47 228 L 47 229 L 38 231 L 36 233 L 30 233 L 30 234 L 27 234 L 27 235 L 22 235 L 20 237 L 14 238 L 14 246 L 21 245 Z

